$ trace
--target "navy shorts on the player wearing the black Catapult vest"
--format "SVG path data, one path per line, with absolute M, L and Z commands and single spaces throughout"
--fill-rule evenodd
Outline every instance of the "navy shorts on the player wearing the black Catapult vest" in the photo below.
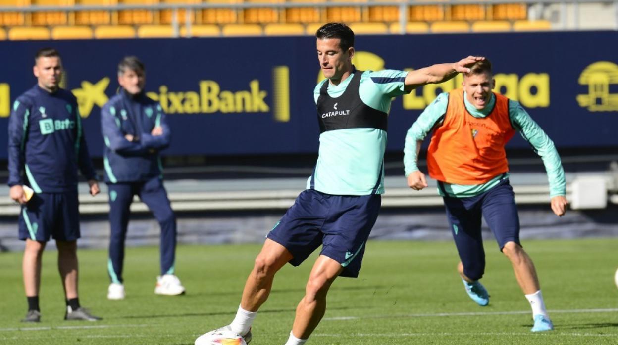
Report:
M 320 254 L 344 267 L 341 276 L 356 278 L 381 204 L 379 194 L 339 196 L 307 189 L 266 238 L 286 247 L 294 266 L 322 245 Z

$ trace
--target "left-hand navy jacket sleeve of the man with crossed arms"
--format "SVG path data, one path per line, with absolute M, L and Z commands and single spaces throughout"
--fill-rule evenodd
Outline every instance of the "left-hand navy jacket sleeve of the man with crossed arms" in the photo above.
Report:
M 127 140 L 121 130 L 120 119 L 116 116 L 116 109 L 109 103 L 101 109 L 101 132 L 105 145 L 122 156 L 142 156 L 147 149 L 142 143 Z

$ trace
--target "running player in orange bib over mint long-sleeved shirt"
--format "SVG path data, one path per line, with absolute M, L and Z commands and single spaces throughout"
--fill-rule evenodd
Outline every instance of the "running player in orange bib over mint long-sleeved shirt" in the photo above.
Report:
M 519 241 L 519 216 L 504 146 L 519 131 L 543 158 L 549 177 L 551 209 L 564 215 L 567 199 L 564 170 L 554 143 L 519 102 L 493 93 L 495 81 L 488 59 L 464 73 L 463 88 L 442 93 L 413 123 L 405 138 L 408 186 L 427 186 L 418 170 L 420 144 L 433 130 L 427 154 L 430 177 L 438 181 L 446 215 L 461 261 L 458 270 L 468 295 L 487 306 L 489 294 L 480 280 L 485 272 L 481 215 L 496 236 L 515 278 L 530 302 L 533 332 L 554 328 L 543 302 L 535 266 Z

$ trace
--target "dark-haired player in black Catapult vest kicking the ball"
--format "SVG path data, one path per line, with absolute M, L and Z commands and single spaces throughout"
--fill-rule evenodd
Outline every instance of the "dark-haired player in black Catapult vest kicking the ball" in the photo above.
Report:
M 226 331 L 248 343 L 253 319 L 268 298 L 275 273 L 287 262 L 300 265 L 321 245 L 286 343 L 304 344 L 324 316 L 333 281 L 337 276 L 358 276 L 384 193 L 386 123 L 392 98 L 468 72 L 467 65 L 482 60 L 468 57 L 413 72 L 362 72 L 352 65 L 354 33 L 349 27 L 328 23 L 316 36 L 326 80 L 313 93 L 321 133 L 315 172 L 307 190 L 268 233 L 232 323 L 200 336 L 197 345 L 212 344 L 217 334 Z

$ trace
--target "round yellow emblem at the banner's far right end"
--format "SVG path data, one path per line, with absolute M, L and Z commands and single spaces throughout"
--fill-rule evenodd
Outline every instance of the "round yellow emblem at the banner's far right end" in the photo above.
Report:
M 580 107 L 592 112 L 618 111 L 618 93 L 609 93 L 609 85 L 618 84 L 618 65 L 599 61 L 583 70 L 578 82 L 588 85 L 588 94 L 579 94 Z

